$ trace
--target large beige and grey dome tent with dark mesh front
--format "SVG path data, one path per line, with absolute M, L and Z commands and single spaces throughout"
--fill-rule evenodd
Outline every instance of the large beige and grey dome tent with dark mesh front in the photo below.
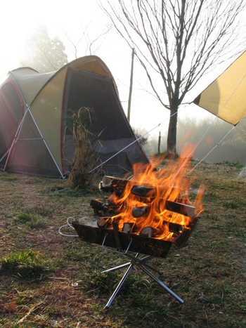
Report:
M 103 165 L 105 172 L 148 163 L 110 70 L 91 55 L 56 72 L 41 74 L 30 67 L 9 72 L 0 86 L 0 168 L 39 176 L 69 174 L 76 147 L 69 117 L 81 107 L 93 108 L 91 132 L 100 134 L 96 151 L 101 162 L 112 157 Z

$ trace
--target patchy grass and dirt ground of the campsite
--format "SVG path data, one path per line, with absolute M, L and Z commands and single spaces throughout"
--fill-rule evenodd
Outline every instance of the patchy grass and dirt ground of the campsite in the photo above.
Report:
M 246 327 L 246 179 L 239 173 L 236 164 L 200 164 L 195 184 L 208 189 L 189 246 L 152 260 L 186 303 L 134 270 L 103 310 L 122 271 L 101 271 L 124 258 L 58 233 L 67 217 L 91 214 L 97 188 L 79 192 L 67 181 L 0 172 L 0 258 L 9 260 L 0 275 L 1 327 Z M 36 271 L 25 258 L 18 271 L 15 252 L 34 256 Z

